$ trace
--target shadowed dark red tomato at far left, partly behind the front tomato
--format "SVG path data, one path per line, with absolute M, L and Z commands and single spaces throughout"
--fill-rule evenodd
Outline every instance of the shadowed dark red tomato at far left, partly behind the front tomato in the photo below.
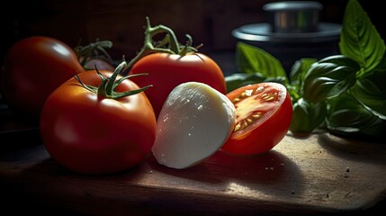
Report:
M 38 120 L 49 94 L 84 70 L 64 42 L 44 36 L 25 38 L 5 55 L 1 94 L 13 112 Z

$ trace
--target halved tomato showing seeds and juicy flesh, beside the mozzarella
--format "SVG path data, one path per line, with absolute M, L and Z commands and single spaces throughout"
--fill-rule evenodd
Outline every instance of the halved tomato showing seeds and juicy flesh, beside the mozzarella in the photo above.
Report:
M 235 129 L 221 148 L 234 155 L 255 155 L 274 148 L 292 121 L 292 99 L 284 85 L 258 83 L 227 94 L 236 107 Z

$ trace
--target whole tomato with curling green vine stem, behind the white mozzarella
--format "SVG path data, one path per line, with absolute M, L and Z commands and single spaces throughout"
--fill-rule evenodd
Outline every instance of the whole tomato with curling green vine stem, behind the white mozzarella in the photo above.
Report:
M 192 47 L 192 37 L 187 36 L 185 45 L 180 45 L 175 33 L 164 25 L 150 26 L 147 19 L 144 47 L 129 64 L 129 74 L 147 73 L 148 76 L 133 77 L 138 85 L 153 85 L 146 91 L 156 116 L 161 111 L 168 94 L 185 82 L 201 82 L 220 93 L 226 93 L 224 74 L 219 65 L 209 56 Z M 166 33 L 164 40 L 153 41 L 157 34 Z

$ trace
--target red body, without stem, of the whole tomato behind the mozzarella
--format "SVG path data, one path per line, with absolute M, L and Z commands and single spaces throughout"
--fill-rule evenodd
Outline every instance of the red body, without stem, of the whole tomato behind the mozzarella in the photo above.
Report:
M 226 93 L 224 74 L 217 63 L 201 53 L 189 53 L 185 56 L 167 53 L 154 53 L 140 58 L 131 68 L 129 75 L 148 73 L 148 76 L 136 76 L 131 80 L 139 86 L 153 85 L 146 91 L 148 100 L 158 116 L 167 96 L 185 82 L 202 82 Z

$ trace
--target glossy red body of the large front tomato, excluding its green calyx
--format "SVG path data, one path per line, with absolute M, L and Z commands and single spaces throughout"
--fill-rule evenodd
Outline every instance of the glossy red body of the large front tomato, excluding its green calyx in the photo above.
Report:
M 93 70 L 79 77 L 85 85 L 101 83 Z M 116 91 L 138 88 L 126 79 Z M 62 166 L 85 174 L 120 172 L 138 165 L 151 152 L 156 127 L 144 92 L 118 100 L 101 98 L 75 78 L 49 95 L 40 115 L 40 134 L 50 156 Z

